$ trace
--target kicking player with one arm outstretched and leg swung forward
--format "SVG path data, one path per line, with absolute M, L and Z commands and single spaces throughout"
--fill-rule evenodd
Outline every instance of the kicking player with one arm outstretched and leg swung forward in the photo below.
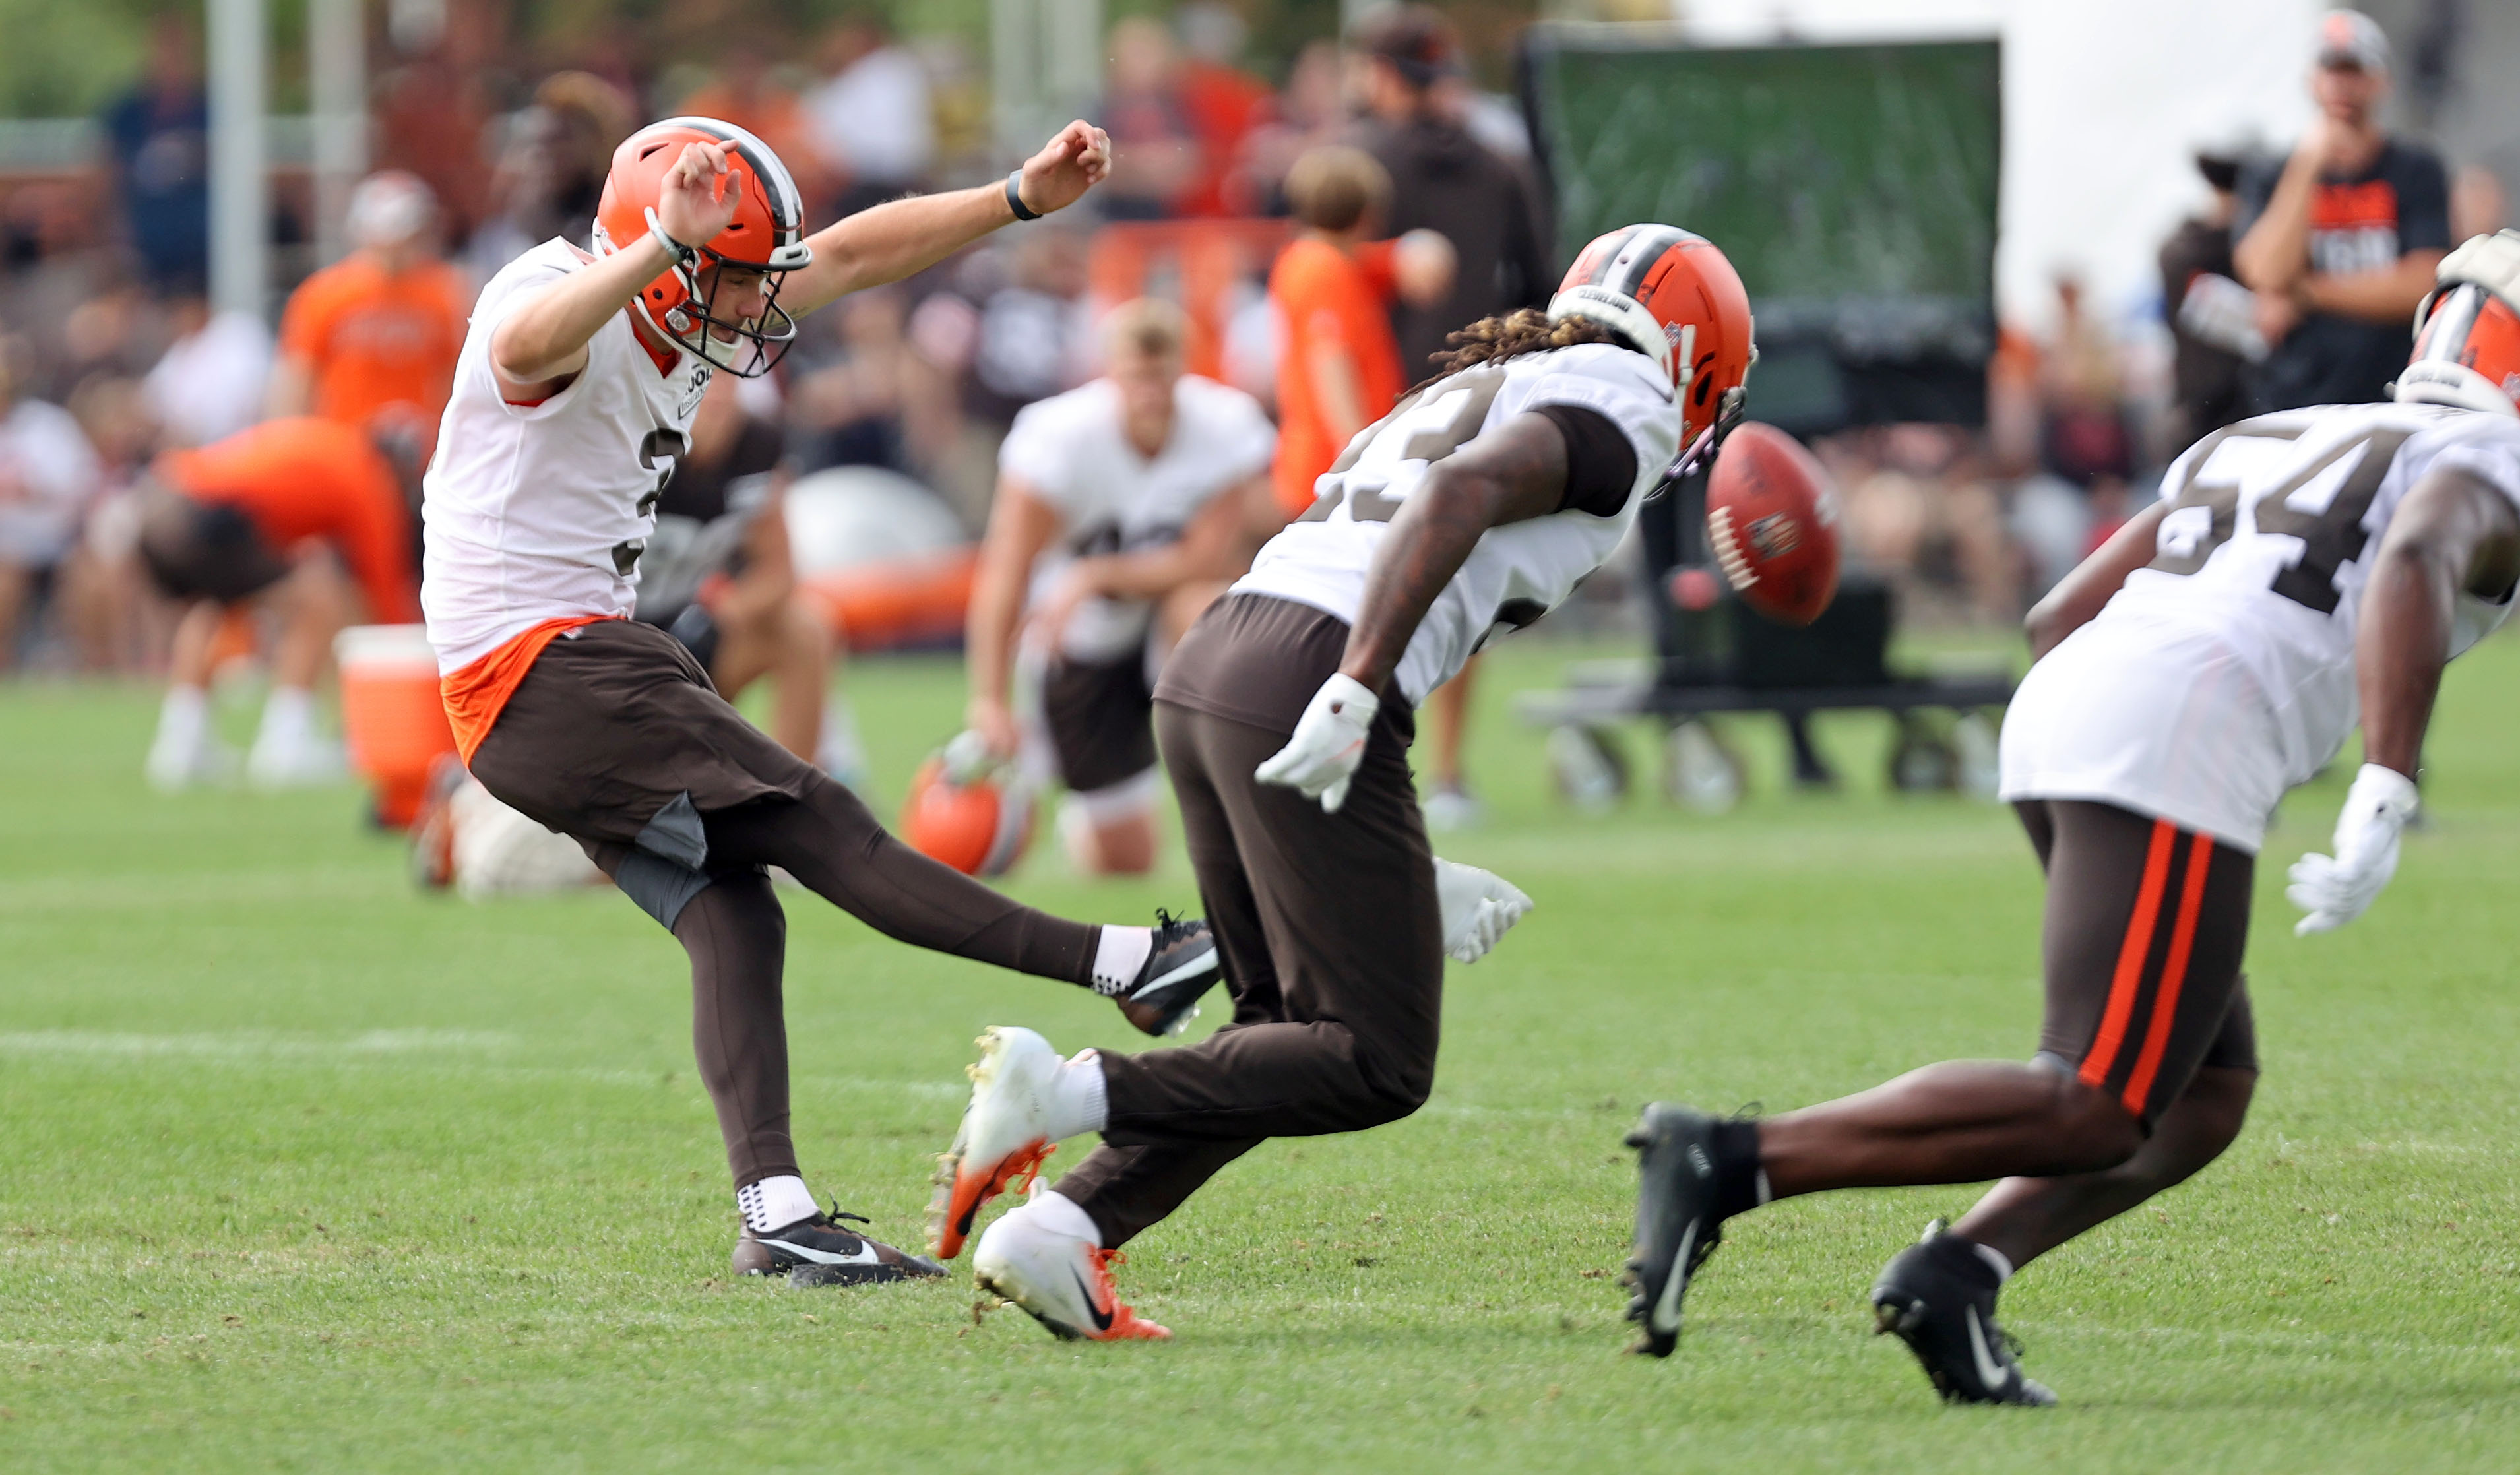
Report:
M 423 502 L 446 714 L 481 787 L 585 845 L 690 953 L 743 1273 L 942 1273 L 806 1193 L 766 867 L 907 943 L 1114 993 L 1142 1029 L 1162 1031 L 1217 973 L 1205 923 L 1068 923 L 895 842 L 721 701 L 673 635 L 627 618 L 713 373 L 766 373 L 796 315 L 1074 204 L 1109 154 L 1101 129 L 1071 124 L 1003 187 L 879 204 L 806 237 L 776 154 L 743 129 L 670 119 L 615 151 L 592 252 L 544 242 L 474 308 Z

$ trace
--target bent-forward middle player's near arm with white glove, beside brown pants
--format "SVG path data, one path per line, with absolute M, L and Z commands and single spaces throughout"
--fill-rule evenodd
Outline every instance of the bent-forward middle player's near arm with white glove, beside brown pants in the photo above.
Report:
M 1479 535 L 1507 522 L 1547 517 L 1565 504 L 1567 441 L 1555 421 L 1522 414 L 1426 469 L 1401 502 L 1391 529 L 1373 547 L 1366 593 L 1348 628 L 1338 673 L 1320 683 L 1295 736 L 1252 777 L 1285 784 L 1338 812 L 1348 779 L 1366 756 L 1366 734 L 1381 691 L 1416 635 L 1426 608 L 1444 593 Z

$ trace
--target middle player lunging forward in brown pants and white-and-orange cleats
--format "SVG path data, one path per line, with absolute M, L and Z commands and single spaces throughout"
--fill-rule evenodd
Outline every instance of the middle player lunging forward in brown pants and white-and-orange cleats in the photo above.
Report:
M 960 1253 L 1008 1177 L 1101 1132 L 973 1253 L 983 1288 L 1058 1336 L 1167 1336 L 1116 1299 L 1114 1251 L 1265 1137 L 1356 1132 L 1426 1099 L 1444 956 L 1477 958 L 1530 900 L 1429 852 L 1411 709 L 1610 557 L 1678 446 L 1739 408 L 1754 358 L 1741 277 L 1666 224 L 1595 240 L 1547 313 L 1454 343 L 1439 378 L 1348 441 L 1154 691 L 1232 1024 L 1139 1056 L 980 1036 L 932 1248 Z

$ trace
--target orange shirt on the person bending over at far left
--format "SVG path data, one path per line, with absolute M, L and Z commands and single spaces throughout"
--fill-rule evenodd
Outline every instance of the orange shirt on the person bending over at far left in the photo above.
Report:
M 365 431 L 318 416 L 262 421 L 194 451 L 166 451 L 156 477 L 194 502 L 244 512 L 277 550 L 310 537 L 330 542 L 378 620 L 421 618 L 403 484 Z

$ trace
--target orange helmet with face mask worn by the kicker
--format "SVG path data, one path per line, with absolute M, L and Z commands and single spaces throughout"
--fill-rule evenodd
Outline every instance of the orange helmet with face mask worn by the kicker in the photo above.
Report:
M 665 240 L 655 204 L 665 192 L 665 171 L 688 144 L 723 144 L 731 154 L 726 187 L 741 194 L 736 219 L 706 242 L 680 242 L 685 247 L 680 260 L 640 287 L 638 310 L 650 328 L 718 368 L 759 378 L 796 340 L 796 320 L 779 305 L 779 282 L 814 260 L 814 247 L 804 245 L 804 199 L 796 194 L 796 179 L 769 144 L 718 119 L 665 119 L 630 134 L 612 151 L 605 197 L 595 207 L 595 250 L 612 255 L 643 234 Z M 761 318 L 738 323 L 716 315 L 716 277 L 711 275 L 703 287 L 701 275 L 721 262 L 769 277 Z M 718 328 L 733 338 L 718 340 Z

